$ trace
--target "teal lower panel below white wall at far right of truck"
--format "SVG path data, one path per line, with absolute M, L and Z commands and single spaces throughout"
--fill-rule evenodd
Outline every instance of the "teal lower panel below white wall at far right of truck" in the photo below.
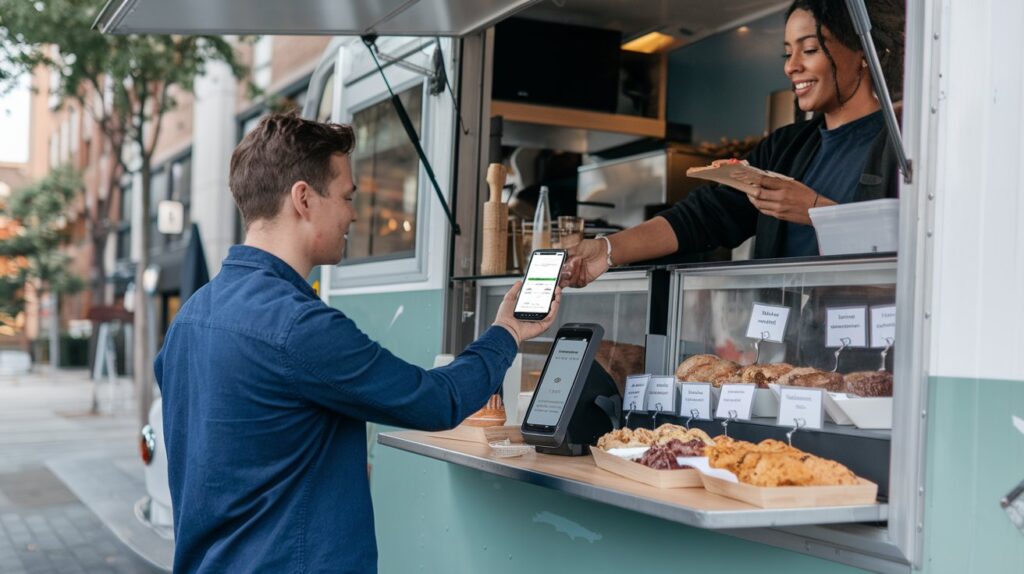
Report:
M 1024 382 L 932 378 L 924 571 L 1024 572 L 1024 535 L 998 501 L 1024 479 Z

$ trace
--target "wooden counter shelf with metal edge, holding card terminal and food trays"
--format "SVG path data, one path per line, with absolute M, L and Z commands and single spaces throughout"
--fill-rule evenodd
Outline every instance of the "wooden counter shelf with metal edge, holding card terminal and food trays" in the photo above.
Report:
M 385 446 L 493 475 L 559 490 L 698 528 L 731 529 L 883 522 L 885 503 L 815 509 L 759 509 L 712 494 L 702 488 L 658 489 L 613 475 L 591 456 L 556 456 L 531 452 L 499 458 L 485 444 L 453 440 L 418 431 L 381 433 Z

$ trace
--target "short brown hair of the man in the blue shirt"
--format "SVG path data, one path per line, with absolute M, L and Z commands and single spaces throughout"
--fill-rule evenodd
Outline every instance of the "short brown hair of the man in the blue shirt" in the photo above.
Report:
M 272 114 L 246 134 L 231 153 L 228 185 L 246 229 L 258 219 L 273 219 L 292 185 L 305 181 L 327 196 L 338 174 L 331 157 L 355 146 L 351 126 L 303 120 L 296 114 Z

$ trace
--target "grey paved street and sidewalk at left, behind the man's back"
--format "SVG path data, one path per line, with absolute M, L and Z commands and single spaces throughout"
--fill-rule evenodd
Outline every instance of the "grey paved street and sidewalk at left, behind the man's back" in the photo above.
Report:
M 98 415 L 88 412 L 92 394 L 84 370 L 0 377 L 0 572 L 164 571 L 115 534 L 160 540 L 132 524 L 144 485 L 131 386 L 112 397 L 104 382 Z

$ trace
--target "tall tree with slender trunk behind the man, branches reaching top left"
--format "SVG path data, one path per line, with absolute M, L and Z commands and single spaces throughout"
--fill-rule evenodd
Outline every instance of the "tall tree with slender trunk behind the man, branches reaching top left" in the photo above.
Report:
M 120 174 L 137 169 L 142 189 L 137 197 L 143 217 L 133 224 L 141 237 L 135 267 L 134 376 L 144 421 L 152 399 L 153 357 L 145 344 L 150 317 L 142 273 L 148 264 L 151 174 L 163 119 L 172 109 L 174 89 L 191 91 L 207 64 L 222 61 L 237 78 L 245 75 L 232 46 L 216 36 L 104 36 L 92 30 L 103 0 L 0 0 L 0 56 L 23 72 L 44 65 L 57 73 L 59 93 L 81 103 L 110 145 L 112 188 Z M 0 67 L 0 82 L 10 80 Z M 131 165 L 126 158 L 133 157 Z M 94 246 L 110 231 L 110 197 L 90 213 Z M 138 244 L 136 244 L 138 245 Z M 102 250 L 94 253 L 101 254 Z M 95 257 L 101 260 L 101 257 Z M 101 265 L 101 261 L 97 261 Z M 105 277 L 105 273 L 99 275 Z

